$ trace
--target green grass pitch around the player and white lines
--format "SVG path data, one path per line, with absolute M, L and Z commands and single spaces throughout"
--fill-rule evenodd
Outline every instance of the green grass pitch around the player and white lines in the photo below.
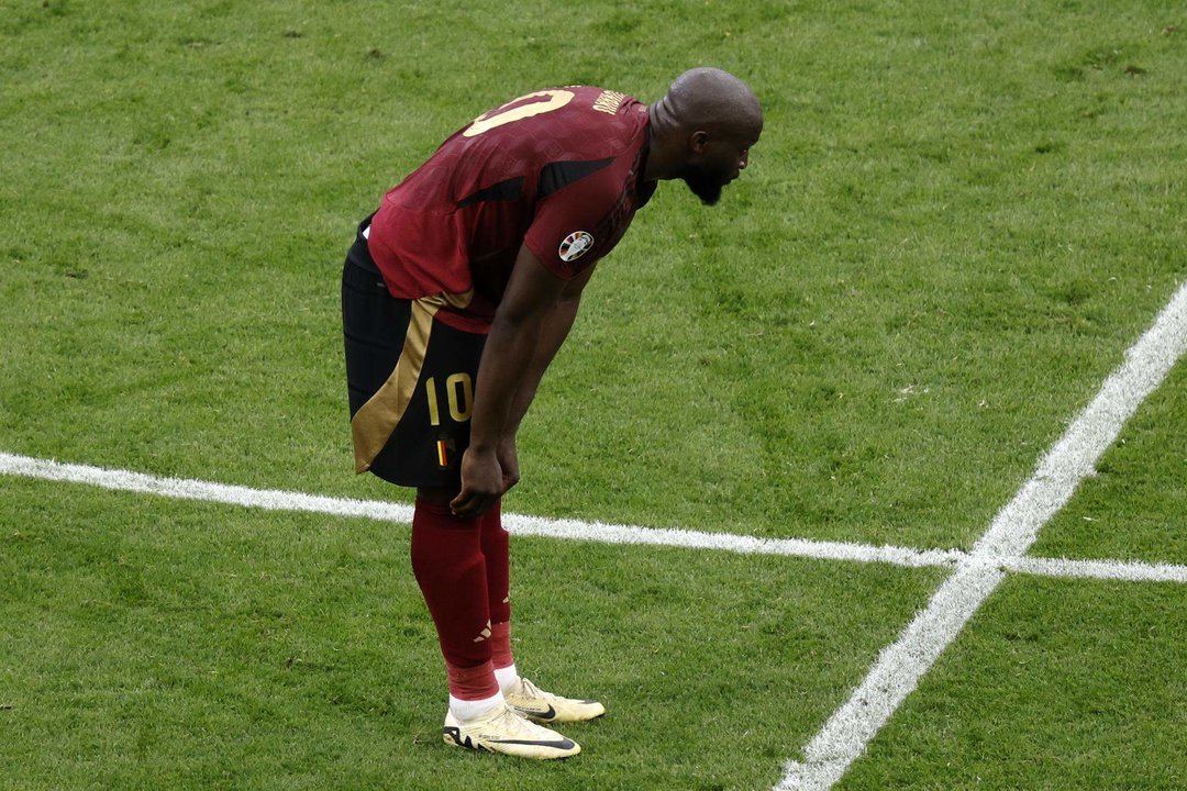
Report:
M 1187 278 L 1187 12 L 0 0 L 0 453 L 337 498 L 358 219 L 490 106 L 745 78 L 520 435 L 514 513 L 971 550 Z M 1187 363 L 1035 557 L 1187 564 Z M 0 789 L 769 790 L 945 568 L 513 538 L 584 753 L 450 749 L 408 529 L 0 472 Z M 1011 574 L 836 787 L 1187 785 L 1187 585 Z

